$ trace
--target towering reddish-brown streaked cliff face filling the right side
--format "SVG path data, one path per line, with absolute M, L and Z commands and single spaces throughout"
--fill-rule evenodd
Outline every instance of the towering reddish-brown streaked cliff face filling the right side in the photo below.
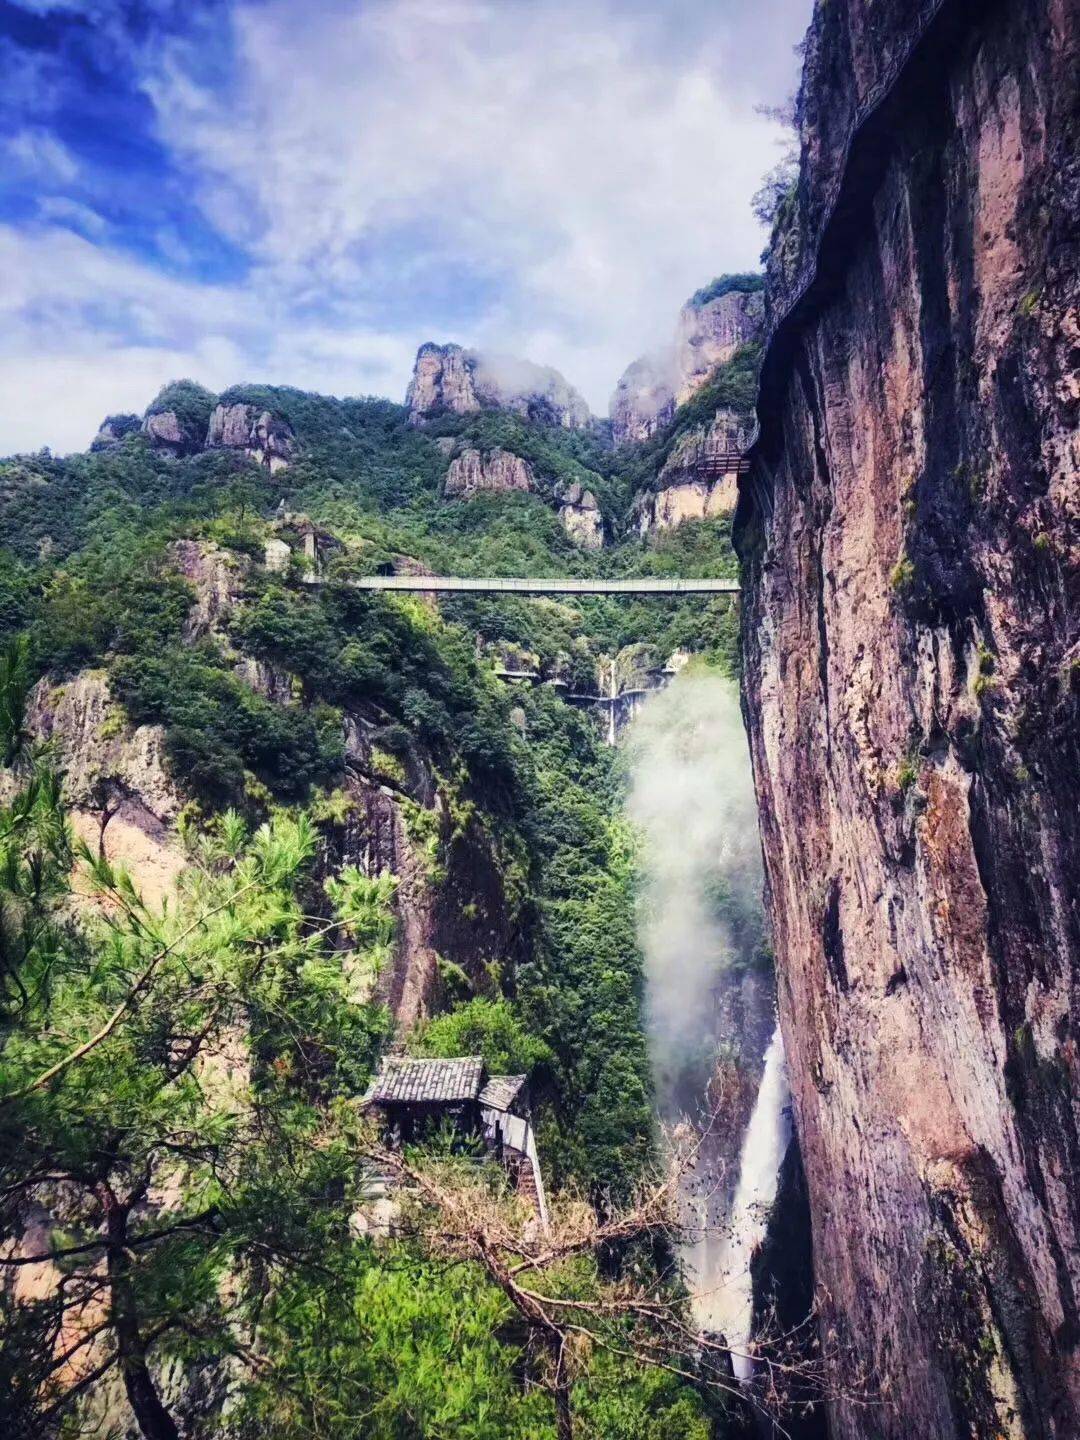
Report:
M 1080 1434 L 1079 45 L 837 0 L 808 48 L 736 539 L 816 1280 L 884 1400 L 840 1440 Z

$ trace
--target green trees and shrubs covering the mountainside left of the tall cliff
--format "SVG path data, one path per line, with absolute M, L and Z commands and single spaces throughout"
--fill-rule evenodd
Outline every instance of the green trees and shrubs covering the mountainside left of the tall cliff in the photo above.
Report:
M 298 438 L 274 480 L 226 451 L 166 456 L 125 419 L 92 454 L 0 462 L 12 779 L 0 811 L 0 1218 L 4 1237 L 20 1236 L 24 1197 L 53 1187 L 49 1247 L 85 1303 L 108 1306 L 102 1356 L 122 1365 L 153 1440 L 171 1440 L 163 1365 L 229 1367 L 220 1433 L 235 1440 L 554 1437 L 547 1359 L 482 1260 L 444 1263 L 422 1225 L 386 1243 L 353 1224 L 357 1158 L 372 1143 L 356 1102 L 389 1038 L 374 996 L 400 913 L 396 881 L 357 861 L 370 840 L 363 796 L 392 792 L 446 952 L 442 1009 L 406 1037 L 410 1048 L 528 1073 L 556 1204 L 563 1192 L 616 1214 L 654 1161 L 622 778 L 590 714 L 550 687 L 504 687 L 490 657 L 528 651 L 576 694 L 596 688 L 600 657 L 632 645 L 642 664 L 685 648 L 733 668 L 736 608 L 724 596 L 462 596 L 433 611 L 333 580 L 402 554 L 464 575 L 733 575 L 726 520 L 593 554 L 572 544 L 553 503 L 580 481 L 622 533 L 681 433 L 720 405 L 749 408 L 755 366 L 742 351 L 665 435 L 619 455 L 602 435 L 495 412 L 418 431 L 389 402 L 239 386 L 222 403 L 258 405 Z M 151 410 L 174 410 L 194 435 L 215 403 L 177 382 Z M 539 494 L 446 503 L 435 441 L 451 436 L 524 455 Z M 261 563 L 282 495 L 343 541 L 318 592 L 298 566 L 271 575 Z M 194 631 L 206 595 L 180 540 L 229 576 L 232 598 L 220 613 L 200 608 Z M 63 755 L 29 746 L 35 683 L 59 688 L 86 670 L 120 706 L 98 739 L 160 726 L 189 799 L 179 832 L 192 865 L 164 912 L 73 844 L 50 769 Z M 455 935 L 477 937 L 475 963 L 459 963 Z M 170 1200 L 156 1217 L 157 1195 Z M 661 1250 L 625 1236 L 599 1259 L 585 1246 L 553 1269 L 550 1293 L 606 1315 L 605 1297 L 658 1284 Z M 96 1424 L 56 1384 L 60 1292 L 29 1308 L 4 1295 L 0 1405 L 42 1436 Z M 560 1404 L 580 1433 L 719 1433 L 683 1380 L 632 1358 L 632 1332 L 619 1320 L 606 1348 L 583 1338 L 566 1369 Z

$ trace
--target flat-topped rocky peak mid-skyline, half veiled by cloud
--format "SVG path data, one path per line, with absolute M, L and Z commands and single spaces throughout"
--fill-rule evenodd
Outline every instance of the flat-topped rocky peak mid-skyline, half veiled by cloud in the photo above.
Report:
M 588 429 L 583 397 L 550 366 L 461 346 L 420 346 L 405 396 L 413 425 L 439 415 L 508 410 L 537 425 Z

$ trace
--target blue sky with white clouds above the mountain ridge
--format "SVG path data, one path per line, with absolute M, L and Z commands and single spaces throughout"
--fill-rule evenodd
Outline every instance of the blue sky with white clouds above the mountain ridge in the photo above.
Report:
M 0 0 L 0 454 L 171 379 L 402 399 L 425 340 L 598 415 L 755 269 L 811 0 Z

